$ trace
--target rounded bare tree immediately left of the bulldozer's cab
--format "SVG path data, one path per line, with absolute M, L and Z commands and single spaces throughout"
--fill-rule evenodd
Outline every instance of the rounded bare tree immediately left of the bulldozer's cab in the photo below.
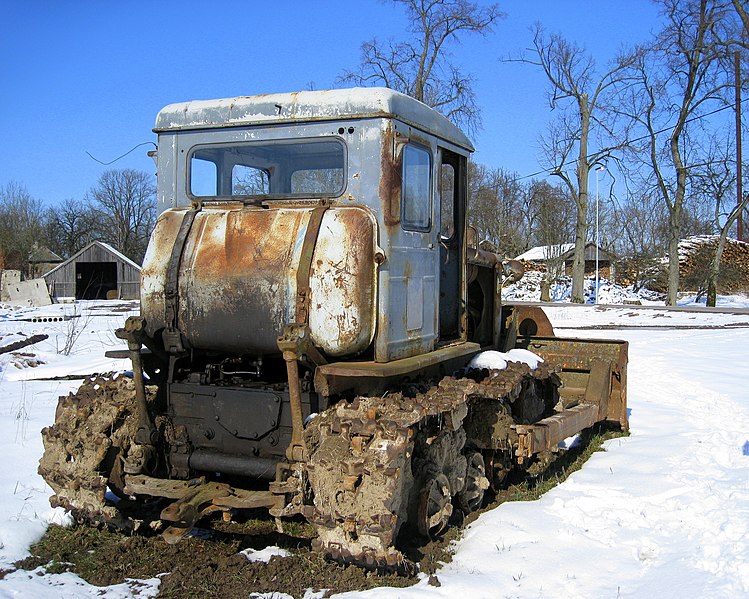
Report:
M 87 194 L 98 217 L 100 238 L 141 262 L 156 222 L 153 177 L 133 169 L 108 170 Z

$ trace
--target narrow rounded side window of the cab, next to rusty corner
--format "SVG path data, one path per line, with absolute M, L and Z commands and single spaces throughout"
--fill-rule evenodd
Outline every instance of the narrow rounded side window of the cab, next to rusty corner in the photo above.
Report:
M 408 144 L 403 148 L 401 226 L 406 231 L 432 228 L 432 156 L 426 148 Z

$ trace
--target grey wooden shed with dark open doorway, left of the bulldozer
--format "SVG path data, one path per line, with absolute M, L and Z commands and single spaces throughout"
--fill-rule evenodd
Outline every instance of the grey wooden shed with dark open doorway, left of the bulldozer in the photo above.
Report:
M 140 266 L 101 241 L 92 242 L 43 278 L 56 299 L 140 299 Z

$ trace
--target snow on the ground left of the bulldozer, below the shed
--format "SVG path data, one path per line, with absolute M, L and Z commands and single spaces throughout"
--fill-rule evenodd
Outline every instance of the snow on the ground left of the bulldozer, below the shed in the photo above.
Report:
M 114 329 L 136 314 L 132 302 L 78 302 L 43 308 L 0 305 L 0 347 L 31 335 L 49 337 L 0 354 L 0 570 L 29 554 L 47 524 L 66 523 L 52 509 L 52 490 L 36 473 L 43 446 L 40 431 L 54 421 L 57 398 L 75 391 L 80 380 L 40 380 L 129 368 L 127 360 L 104 357 L 124 349 Z M 66 355 L 67 353 L 67 355 Z M 38 364 L 33 367 L 31 364 Z M 107 587 L 106 596 L 152 597 L 158 580 Z M 72 574 L 12 572 L 0 580 L 0 597 L 101 597 L 101 589 Z

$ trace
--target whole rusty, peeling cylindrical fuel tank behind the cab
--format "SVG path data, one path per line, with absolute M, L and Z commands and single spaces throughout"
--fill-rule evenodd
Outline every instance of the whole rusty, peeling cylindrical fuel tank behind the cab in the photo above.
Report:
M 361 206 L 330 206 L 314 246 L 305 248 L 317 206 L 226 202 L 162 213 L 142 270 L 148 333 L 171 324 L 173 313 L 193 348 L 278 353 L 278 336 L 296 318 L 297 271 L 306 263 L 312 342 L 334 357 L 364 351 L 377 311 L 376 221 Z M 310 250 L 311 262 L 305 261 L 303 252 Z M 170 285 L 176 291 L 173 308 Z

